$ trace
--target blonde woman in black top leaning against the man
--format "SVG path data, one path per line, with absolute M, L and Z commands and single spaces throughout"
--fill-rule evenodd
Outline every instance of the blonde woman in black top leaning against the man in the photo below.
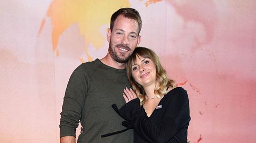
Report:
M 119 115 L 133 126 L 134 142 L 187 142 L 187 92 L 175 88 L 157 55 L 148 48 L 137 47 L 126 70 L 132 89 L 124 89 L 126 104 Z

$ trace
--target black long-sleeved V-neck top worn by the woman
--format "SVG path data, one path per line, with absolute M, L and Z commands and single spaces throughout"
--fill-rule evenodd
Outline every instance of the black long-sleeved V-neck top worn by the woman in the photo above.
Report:
M 169 91 L 150 117 L 138 98 L 121 107 L 119 115 L 133 125 L 135 143 L 187 142 L 189 102 L 187 91 L 181 87 Z

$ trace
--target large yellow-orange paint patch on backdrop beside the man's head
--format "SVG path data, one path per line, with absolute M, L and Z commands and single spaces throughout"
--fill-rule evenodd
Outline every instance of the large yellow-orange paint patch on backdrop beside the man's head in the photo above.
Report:
M 102 1 L 98 3 L 101 4 L 95 4 L 94 1 L 77 1 L 75 3 L 61 0 L 52 1 L 46 15 L 51 18 L 53 27 L 52 47 L 57 56 L 59 56 L 58 43 L 60 36 L 71 24 L 75 23 L 85 40 L 84 52 L 87 56 L 86 61 L 92 61 L 93 58 L 87 51 L 88 44 L 91 43 L 95 49 L 102 48 L 105 40 L 100 28 L 109 23 L 109 18 L 117 7 L 130 7 L 130 3 L 127 0 Z M 105 9 L 105 7 L 108 7 L 108 9 Z

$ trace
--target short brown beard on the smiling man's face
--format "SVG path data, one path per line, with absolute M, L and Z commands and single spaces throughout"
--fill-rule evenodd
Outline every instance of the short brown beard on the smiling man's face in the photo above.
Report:
M 129 46 L 126 46 L 124 44 L 117 44 L 116 46 L 114 44 L 111 44 L 111 41 L 109 42 L 109 48 L 108 48 L 108 52 L 110 54 L 110 56 L 118 63 L 126 63 L 130 57 L 130 55 L 128 57 L 125 57 L 125 54 L 123 53 L 119 53 L 120 55 L 118 56 L 116 51 L 115 51 L 115 48 L 116 47 L 123 47 L 125 49 L 130 49 Z M 114 49 L 114 51 L 113 51 Z

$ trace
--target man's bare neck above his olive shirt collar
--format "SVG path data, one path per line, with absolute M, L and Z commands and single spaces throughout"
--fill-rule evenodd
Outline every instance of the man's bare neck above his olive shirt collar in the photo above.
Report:
M 111 66 L 112 68 L 119 69 L 119 70 L 125 69 L 125 65 L 126 65 L 126 63 L 116 62 L 109 54 L 101 58 L 100 61 L 103 64 L 106 64 L 108 66 Z

